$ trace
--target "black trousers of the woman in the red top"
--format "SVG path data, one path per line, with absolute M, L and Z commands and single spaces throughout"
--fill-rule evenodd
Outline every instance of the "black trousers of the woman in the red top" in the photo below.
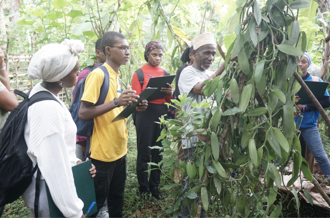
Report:
M 136 138 L 138 156 L 136 160 L 136 175 L 139 182 L 141 192 L 148 191 L 149 187 L 157 187 L 160 183 L 160 168 L 151 165 L 150 178 L 148 180 L 148 164 L 158 164 L 163 160 L 160 155 L 162 150 L 150 149 L 152 146 L 162 147 L 162 140 L 156 141 L 164 128 L 158 123 L 159 117 L 168 113 L 167 106 L 164 104 L 148 103 L 145 111 L 138 111 L 136 114 Z M 166 116 L 165 116 L 166 118 Z

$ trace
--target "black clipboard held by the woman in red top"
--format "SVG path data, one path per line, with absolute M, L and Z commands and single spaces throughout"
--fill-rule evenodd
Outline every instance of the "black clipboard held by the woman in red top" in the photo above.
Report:
M 167 86 L 166 83 L 172 84 L 174 78 L 175 78 L 175 75 L 150 78 L 146 87 L 157 88 L 157 91 L 155 91 L 147 99 L 147 101 L 153 101 L 153 100 L 156 100 L 156 99 L 164 98 L 165 93 L 161 92 L 160 89 L 161 88 L 167 88 L 168 86 Z

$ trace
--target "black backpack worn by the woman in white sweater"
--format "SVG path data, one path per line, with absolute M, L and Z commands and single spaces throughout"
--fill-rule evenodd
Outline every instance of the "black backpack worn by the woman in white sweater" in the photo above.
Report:
M 29 93 L 25 94 L 17 89 L 14 93 L 22 96 L 24 100 L 9 114 L 0 133 L 0 207 L 16 201 L 31 184 L 32 176 L 38 169 L 38 164 L 33 168 L 24 139 L 28 108 L 44 100 L 54 100 L 59 103 L 48 91 L 37 92 L 31 98 L 28 98 Z M 41 172 L 38 170 L 35 209 L 39 202 L 40 176 Z M 35 213 L 38 217 L 38 209 Z

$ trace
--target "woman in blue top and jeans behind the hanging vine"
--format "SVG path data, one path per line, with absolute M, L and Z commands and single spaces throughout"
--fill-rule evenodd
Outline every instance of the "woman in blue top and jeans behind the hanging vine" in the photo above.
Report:
M 314 77 L 307 73 L 308 66 L 311 65 L 312 58 L 305 52 L 300 58 L 298 67 L 302 72 L 302 79 L 305 81 L 319 81 L 322 79 Z M 301 143 L 301 154 L 305 157 L 306 145 L 311 150 L 315 160 L 320 165 L 320 168 L 326 177 L 330 177 L 330 162 L 325 154 L 323 144 L 321 141 L 320 133 L 318 132 L 317 119 L 320 117 L 320 112 L 316 109 L 314 104 L 301 105 L 299 104 L 299 96 L 296 96 L 295 104 L 301 111 L 301 115 L 294 118 L 296 125 L 300 126 L 300 143 Z M 324 96 L 319 100 L 322 108 L 328 108 L 330 106 L 330 97 L 328 90 L 325 90 Z

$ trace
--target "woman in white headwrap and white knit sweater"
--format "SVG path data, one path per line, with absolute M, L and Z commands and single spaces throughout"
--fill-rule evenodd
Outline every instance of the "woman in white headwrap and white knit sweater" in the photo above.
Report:
M 48 91 L 56 97 L 63 87 L 72 87 L 79 73 L 78 55 L 82 49 L 80 40 L 65 39 L 61 44 L 49 44 L 37 51 L 27 71 L 30 78 L 42 79 L 42 82 L 33 87 L 29 97 L 39 91 Z M 61 104 L 45 100 L 29 107 L 24 130 L 27 153 L 34 166 L 38 163 L 42 173 L 39 217 L 50 217 L 45 181 L 52 199 L 65 217 L 83 217 L 83 202 L 77 196 L 71 170 L 81 162 L 75 155 L 77 127 L 65 104 L 57 100 Z M 95 167 L 90 173 L 95 176 Z M 22 195 L 31 217 L 35 214 L 35 177 L 36 173 Z

